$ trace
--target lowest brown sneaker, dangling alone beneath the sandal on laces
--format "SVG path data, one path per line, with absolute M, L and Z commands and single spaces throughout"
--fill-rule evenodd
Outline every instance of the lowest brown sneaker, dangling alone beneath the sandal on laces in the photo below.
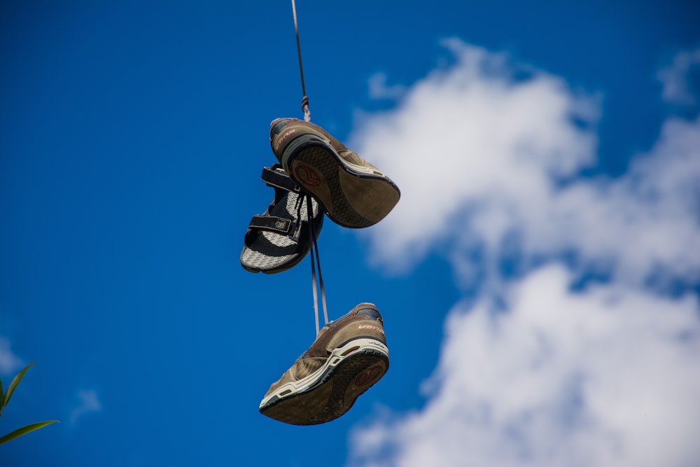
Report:
M 321 328 L 316 342 L 269 387 L 260 413 L 293 425 L 337 419 L 388 366 L 381 314 L 371 303 L 360 303 Z

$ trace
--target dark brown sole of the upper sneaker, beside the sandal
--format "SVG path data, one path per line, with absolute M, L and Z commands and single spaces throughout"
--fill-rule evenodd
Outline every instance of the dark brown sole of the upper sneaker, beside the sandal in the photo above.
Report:
M 381 221 L 398 203 L 400 192 L 386 176 L 346 162 L 315 134 L 302 134 L 286 146 L 282 166 L 314 196 L 330 219 L 343 227 L 365 228 Z

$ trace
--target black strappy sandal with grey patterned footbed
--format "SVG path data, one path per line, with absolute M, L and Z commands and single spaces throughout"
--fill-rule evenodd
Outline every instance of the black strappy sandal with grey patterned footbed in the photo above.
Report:
M 309 198 L 279 164 L 262 169 L 261 178 L 274 188 L 274 198 L 265 213 L 253 216 L 248 225 L 241 266 L 274 274 L 297 265 L 309 252 L 323 227 L 323 207 L 311 198 L 309 219 Z

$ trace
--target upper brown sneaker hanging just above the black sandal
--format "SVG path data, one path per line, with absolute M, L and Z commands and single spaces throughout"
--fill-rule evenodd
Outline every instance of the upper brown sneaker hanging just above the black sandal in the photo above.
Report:
M 270 125 L 269 141 L 292 179 L 343 227 L 374 225 L 399 200 L 393 181 L 318 125 L 278 118 Z

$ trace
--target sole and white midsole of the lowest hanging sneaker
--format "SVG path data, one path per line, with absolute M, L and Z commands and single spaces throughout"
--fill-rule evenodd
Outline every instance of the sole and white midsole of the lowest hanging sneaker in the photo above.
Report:
M 378 340 L 360 338 L 330 354 L 321 368 L 287 383 L 260 403 L 260 413 L 293 425 L 317 425 L 335 420 L 388 370 L 388 348 Z

